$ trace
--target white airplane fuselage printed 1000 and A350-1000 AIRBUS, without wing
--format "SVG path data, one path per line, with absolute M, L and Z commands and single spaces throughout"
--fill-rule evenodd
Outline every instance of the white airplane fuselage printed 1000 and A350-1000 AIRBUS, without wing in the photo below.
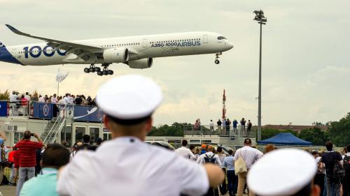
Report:
M 221 52 L 230 50 L 233 47 L 229 40 L 218 33 L 211 32 L 169 33 L 148 36 L 76 40 L 71 43 L 98 45 L 101 46 L 103 50 L 125 47 L 130 51 L 128 61 L 165 56 L 221 54 Z M 80 59 L 79 56 L 73 53 L 66 55 L 65 50 L 57 50 L 47 45 L 47 43 L 15 45 L 10 47 L 5 47 L 1 43 L 0 61 L 19 63 L 23 66 L 50 66 L 67 63 L 111 63 L 106 62 L 104 58 L 91 61 Z

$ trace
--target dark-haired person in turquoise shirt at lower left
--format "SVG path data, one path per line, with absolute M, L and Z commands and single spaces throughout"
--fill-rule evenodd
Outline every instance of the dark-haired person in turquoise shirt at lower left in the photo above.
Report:
M 49 144 L 41 160 L 41 175 L 27 181 L 20 196 L 58 196 L 56 192 L 57 172 L 59 167 L 69 162 L 69 150 L 61 144 Z

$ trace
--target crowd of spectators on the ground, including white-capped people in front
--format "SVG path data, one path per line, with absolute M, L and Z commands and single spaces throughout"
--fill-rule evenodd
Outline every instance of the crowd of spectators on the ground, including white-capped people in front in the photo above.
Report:
M 45 146 L 38 135 L 27 130 L 13 155 L 15 164 L 18 162 L 16 196 L 194 196 L 227 192 L 241 196 L 244 191 L 262 196 L 316 196 L 321 194 L 322 184 L 327 196 L 338 196 L 340 190 L 349 195 L 350 154 L 346 152 L 342 158 L 333 151 L 331 142 L 325 144 L 328 151 L 321 158 L 317 153 L 312 157 L 310 152 L 276 149 L 273 145 L 262 153 L 249 138 L 243 147 L 227 153 L 221 146 L 206 144 L 188 149 L 186 140 L 181 148 L 170 151 L 143 142 L 152 128 L 152 114 L 162 102 L 160 86 L 153 80 L 139 75 L 113 78 L 99 89 L 96 101 L 104 111 L 104 125 L 113 140 L 91 146 L 90 136 L 85 135 L 83 142 L 69 151 L 62 144 Z M 38 141 L 31 141 L 31 137 Z M 0 144 L 4 140 L 0 135 Z M 349 148 L 346 146 L 346 151 Z M 40 160 L 36 160 L 38 151 Z M 38 162 L 42 168 L 34 177 Z M 324 176 L 318 175 L 318 170 Z M 318 183 L 322 178 L 323 183 Z

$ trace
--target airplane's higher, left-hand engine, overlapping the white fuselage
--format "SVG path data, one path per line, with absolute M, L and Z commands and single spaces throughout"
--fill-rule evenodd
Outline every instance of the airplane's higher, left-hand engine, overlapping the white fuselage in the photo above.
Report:
M 104 62 L 124 63 L 129 60 L 129 50 L 125 47 L 116 47 L 104 50 Z

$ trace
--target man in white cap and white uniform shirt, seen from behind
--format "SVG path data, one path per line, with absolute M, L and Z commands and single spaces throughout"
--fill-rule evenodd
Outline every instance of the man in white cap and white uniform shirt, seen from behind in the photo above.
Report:
M 174 151 L 143 142 L 162 102 L 160 86 L 140 75 L 101 86 L 97 105 L 113 140 L 79 151 L 59 174 L 59 195 L 204 195 L 224 178 L 220 167 L 198 165 Z

